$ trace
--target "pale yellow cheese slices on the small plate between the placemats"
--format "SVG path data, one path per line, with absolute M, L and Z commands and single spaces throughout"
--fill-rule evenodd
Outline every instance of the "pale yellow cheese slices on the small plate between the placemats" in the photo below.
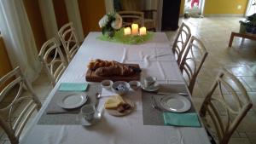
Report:
M 106 102 L 105 102 L 105 108 L 106 109 L 114 109 L 119 107 L 120 104 L 124 104 L 125 101 L 120 95 L 116 95 L 113 97 L 110 97 Z

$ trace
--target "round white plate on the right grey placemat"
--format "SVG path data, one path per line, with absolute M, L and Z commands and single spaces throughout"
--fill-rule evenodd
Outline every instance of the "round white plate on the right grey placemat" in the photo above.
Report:
M 169 112 L 186 112 L 191 107 L 191 103 L 187 98 L 177 94 L 162 97 L 160 105 Z

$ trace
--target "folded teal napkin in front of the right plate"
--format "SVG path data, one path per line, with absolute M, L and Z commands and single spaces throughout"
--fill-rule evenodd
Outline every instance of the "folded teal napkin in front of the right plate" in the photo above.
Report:
M 165 125 L 201 127 L 197 113 L 174 113 L 164 112 Z

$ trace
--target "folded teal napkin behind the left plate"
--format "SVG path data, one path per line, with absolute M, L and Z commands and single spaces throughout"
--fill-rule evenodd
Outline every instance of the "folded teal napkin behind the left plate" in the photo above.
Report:
M 60 91 L 85 91 L 88 83 L 61 83 Z

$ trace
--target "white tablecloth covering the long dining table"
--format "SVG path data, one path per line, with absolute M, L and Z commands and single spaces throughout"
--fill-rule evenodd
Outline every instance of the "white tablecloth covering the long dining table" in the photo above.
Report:
M 20 143 L 24 144 L 208 144 L 210 143 L 204 125 L 183 127 L 145 124 L 143 120 L 143 90 L 131 93 L 135 106 L 133 112 L 123 117 L 114 117 L 104 109 L 108 96 L 98 102 L 101 119 L 94 125 L 40 124 L 50 101 L 62 83 L 88 83 L 85 79 L 90 60 L 116 60 L 120 63 L 138 64 L 140 78 L 151 76 L 158 84 L 179 84 L 186 88 L 182 73 L 177 66 L 172 45 L 165 32 L 154 32 L 154 36 L 140 44 L 124 44 L 102 41 L 101 32 L 90 32 L 78 52 L 67 66 L 58 83 L 33 118 Z M 187 91 L 189 93 L 189 91 Z M 189 94 L 189 98 L 191 95 Z M 192 107 L 194 107 L 193 102 Z M 148 110 L 158 111 L 153 107 Z M 65 114 L 63 114 L 65 115 Z

